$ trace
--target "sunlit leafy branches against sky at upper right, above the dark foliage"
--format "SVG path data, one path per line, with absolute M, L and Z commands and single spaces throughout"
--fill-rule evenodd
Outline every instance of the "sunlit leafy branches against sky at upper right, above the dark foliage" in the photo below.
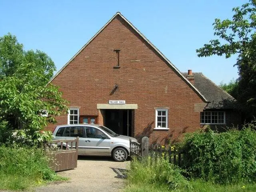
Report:
M 209 44 L 204 44 L 202 48 L 196 50 L 199 57 L 224 54 L 226 58 L 229 58 L 233 54 L 242 54 L 248 50 L 248 42 L 255 34 L 256 8 L 247 3 L 242 5 L 242 8 L 233 8 L 233 11 L 235 13 L 232 20 L 215 19 L 213 23 L 214 35 L 225 40 L 226 44 L 220 44 L 218 39 L 210 40 Z

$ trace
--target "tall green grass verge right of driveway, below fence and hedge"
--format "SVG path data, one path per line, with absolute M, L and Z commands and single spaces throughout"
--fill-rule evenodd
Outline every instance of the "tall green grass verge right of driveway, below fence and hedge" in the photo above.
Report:
M 255 183 L 220 185 L 200 179 L 188 181 L 182 172 L 165 160 L 150 165 L 150 159 L 140 162 L 135 158 L 123 192 L 256 192 Z

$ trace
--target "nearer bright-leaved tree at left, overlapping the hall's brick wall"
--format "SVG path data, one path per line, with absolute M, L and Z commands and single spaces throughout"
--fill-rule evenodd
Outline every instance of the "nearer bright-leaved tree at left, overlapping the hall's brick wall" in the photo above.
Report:
M 4 77 L 0 81 L 0 114 L 12 128 L 23 129 L 30 139 L 37 140 L 41 137 L 38 131 L 55 123 L 55 116 L 68 108 L 57 86 L 38 86 L 35 79 L 44 81 L 46 76 L 34 63 L 21 64 L 13 76 Z

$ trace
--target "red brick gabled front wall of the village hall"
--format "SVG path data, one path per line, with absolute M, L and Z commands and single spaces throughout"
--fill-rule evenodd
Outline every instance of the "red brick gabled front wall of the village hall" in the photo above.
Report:
M 68 48 L 68 46 L 67 46 Z M 120 50 L 120 68 L 116 52 Z M 126 100 L 138 104 L 134 110 L 134 136 L 149 136 L 151 143 L 173 141 L 184 132 L 200 128 L 200 112 L 195 104 L 204 103 L 161 56 L 120 16 L 68 64 L 52 84 L 60 86 L 70 107 L 78 107 L 80 115 L 102 115 L 97 103 Z M 110 94 L 114 85 L 119 87 Z M 156 131 L 155 109 L 168 107 L 168 131 Z M 196 111 L 196 112 L 195 112 Z M 67 124 L 67 115 L 57 118 Z M 55 126 L 49 125 L 48 130 Z

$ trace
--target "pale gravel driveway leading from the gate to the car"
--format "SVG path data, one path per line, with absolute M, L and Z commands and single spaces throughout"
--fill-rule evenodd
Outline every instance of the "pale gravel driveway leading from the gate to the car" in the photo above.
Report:
M 130 168 L 130 161 L 114 162 L 111 157 L 78 157 L 77 168 L 58 172 L 70 178 L 40 186 L 36 192 L 118 192 L 124 186 L 124 172 Z

